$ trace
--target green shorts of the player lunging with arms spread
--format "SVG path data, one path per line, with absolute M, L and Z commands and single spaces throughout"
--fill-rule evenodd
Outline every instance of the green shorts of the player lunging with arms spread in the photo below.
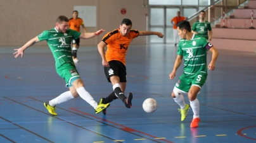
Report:
M 56 69 L 56 72 L 60 77 L 65 79 L 67 87 L 71 87 L 75 79 L 80 78 L 77 69 L 75 69 L 75 66 L 70 63 L 61 65 L 60 67 L 58 67 L 58 69 Z

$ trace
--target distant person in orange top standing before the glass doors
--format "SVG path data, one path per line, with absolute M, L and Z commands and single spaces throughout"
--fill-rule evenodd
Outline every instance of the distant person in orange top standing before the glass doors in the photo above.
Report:
M 177 16 L 175 16 L 174 18 L 172 18 L 172 20 L 170 20 L 170 22 L 172 23 L 172 28 L 173 28 L 173 34 L 174 34 L 174 45 L 176 46 L 177 43 L 179 42 L 179 40 L 181 40 L 181 38 L 178 36 L 178 31 L 177 31 L 177 23 L 179 21 L 182 20 L 186 20 L 186 18 L 184 16 L 181 16 L 181 12 L 177 11 Z

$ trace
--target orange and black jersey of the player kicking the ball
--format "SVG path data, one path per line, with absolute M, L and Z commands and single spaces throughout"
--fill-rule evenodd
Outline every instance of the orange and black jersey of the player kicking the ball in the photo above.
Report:
M 106 43 L 106 61 L 118 60 L 125 65 L 125 55 L 130 42 L 139 36 L 138 30 L 131 30 L 125 37 L 120 33 L 120 28 L 108 32 L 102 41 Z

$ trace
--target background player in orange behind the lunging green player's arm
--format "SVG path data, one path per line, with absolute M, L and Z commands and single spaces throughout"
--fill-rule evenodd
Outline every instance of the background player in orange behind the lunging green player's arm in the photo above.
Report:
M 80 32 L 80 26 L 82 26 L 84 32 L 87 32 L 86 27 L 84 26 L 84 21 L 82 21 L 82 18 L 78 17 L 78 11 L 73 11 L 73 17 L 70 18 L 68 26 L 70 29 L 78 32 Z M 72 57 L 74 62 L 78 62 L 79 60 L 77 59 L 77 50 L 79 49 L 80 38 L 73 39 L 72 43 Z

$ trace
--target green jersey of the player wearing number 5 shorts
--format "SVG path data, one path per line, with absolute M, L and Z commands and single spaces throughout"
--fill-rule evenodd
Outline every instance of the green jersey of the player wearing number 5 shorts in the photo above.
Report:
M 181 39 L 178 55 L 184 58 L 184 76 L 195 77 L 199 72 L 207 74 L 207 51 L 213 47 L 207 39 L 193 34 L 191 40 Z

